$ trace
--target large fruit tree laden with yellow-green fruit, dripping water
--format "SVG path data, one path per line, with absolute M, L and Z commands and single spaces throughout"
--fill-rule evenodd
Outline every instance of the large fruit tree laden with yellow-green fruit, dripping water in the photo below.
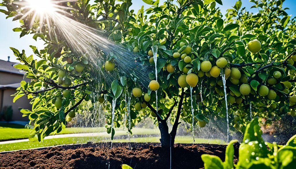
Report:
M 54 1 L 71 20 L 103 30 L 114 46 L 122 44 L 129 51 L 122 56 L 121 47 L 99 50 L 97 60 L 75 52 L 50 14 L 34 17 L 16 0 L 1 3 L 7 7 L 1 12 L 20 19 L 14 31 L 32 33 L 46 44 L 42 50 L 31 46 L 41 60 L 11 48 L 23 63 L 15 67 L 32 79 L 21 82 L 14 99 L 32 99 L 32 109 L 21 110 L 34 122 L 32 140 L 60 132 L 82 102 L 105 105 L 112 136 L 114 127 L 124 125 L 132 133 L 141 119 L 151 117 L 163 147 L 174 144 L 181 121 L 205 127 L 209 117 L 226 117 L 227 104 L 232 130 L 244 131 L 252 117 L 295 116 L 296 22 L 282 7 L 284 0 L 252 0 L 256 14 L 237 1 L 225 16 L 216 7 L 221 0 L 143 1 L 150 8 L 138 12 L 130 10 L 131 0 Z M 81 41 L 94 38 L 83 35 L 75 36 Z M 123 57 L 130 60 L 122 62 Z M 138 67 L 130 69 L 133 64 Z M 143 78 L 134 78 L 137 73 Z M 173 125 L 170 131 L 168 123 Z

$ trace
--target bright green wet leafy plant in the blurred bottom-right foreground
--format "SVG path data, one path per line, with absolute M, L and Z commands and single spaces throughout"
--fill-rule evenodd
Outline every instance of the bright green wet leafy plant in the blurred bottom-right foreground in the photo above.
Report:
M 286 145 L 264 142 L 258 119 L 247 125 L 244 139 L 239 146 L 239 160 L 233 163 L 234 147 L 237 140 L 226 147 L 225 162 L 214 155 L 203 154 L 205 169 L 292 169 L 296 165 L 296 135 Z

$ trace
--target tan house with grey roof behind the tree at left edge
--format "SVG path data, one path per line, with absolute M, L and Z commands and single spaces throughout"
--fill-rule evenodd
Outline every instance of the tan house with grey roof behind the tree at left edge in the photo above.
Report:
M 22 117 L 20 109 L 31 109 L 30 100 L 23 96 L 13 103 L 14 96 L 11 96 L 16 93 L 16 89 L 20 87 L 20 82 L 30 81 L 29 78 L 25 78 L 25 72 L 18 70 L 14 65 L 18 63 L 4 61 L 0 59 L 0 121 L 4 119 L 4 112 L 7 107 L 12 106 L 12 121 L 28 121 L 28 117 Z M 10 111 L 11 112 L 11 111 Z

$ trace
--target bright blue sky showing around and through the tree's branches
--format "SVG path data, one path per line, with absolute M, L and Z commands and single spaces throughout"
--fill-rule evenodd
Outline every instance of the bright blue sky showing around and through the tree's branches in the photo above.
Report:
M 2 0 L 0 0 L 2 2 Z M 160 3 L 163 3 L 165 0 L 160 0 Z M 226 13 L 226 10 L 234 6 L 236 0 L 222 0 L 223 6 L 218 4 L 218 7 L 221 9 L 223 15 Z M 141 0 L 132 0 L 132 7 L 137 11 L 144 5 L 144 9 L 147 9 L 149 5 L 145 4 Z M 246 7 L 246 9 L 250 9 L 253 3 L 249 2 L 249 0 L 242 0 L 242 6 Z M 295 0 L 286 0 L 284 2 L 284 7 L 289 7 L 290 9 L 287 10 L 289 15 L 292 17 L 296 16 L 296 11 L 294 8 Z M 6 9 L 4 7 L 0 7 L 0 9 Z M 257 12 L 256 9 L 250 9 L 252 12 Z M 19 32 L 13 32 L 12 29 L 19 27 L 19 21 L 12 22 L 12 18 L 5 19 L 6 15 L 0 12 L 0 59 L 7 60 L 7 56 L 10 56 L 10 61 L 17 62 L 16 57 L 13 55 L 13 52 L 9 49 L 9 47 L 14 47 L 16 49 L 26 51 L 27 55 L 33 54 L 32 50 L 30 49 L 29 45 L 37 46 L 38 49 L 43 48 L 43 41 L 37 40 L 35 41 L 32 38 L 32 35 L 26 35 L 20 38 Z

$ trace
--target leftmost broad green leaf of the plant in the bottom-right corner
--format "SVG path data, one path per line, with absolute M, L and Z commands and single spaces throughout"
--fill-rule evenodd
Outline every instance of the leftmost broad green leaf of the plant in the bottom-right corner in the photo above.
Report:
M 224 169 L 222 160 L 214 155 L 202 154 L 205 169 Z

